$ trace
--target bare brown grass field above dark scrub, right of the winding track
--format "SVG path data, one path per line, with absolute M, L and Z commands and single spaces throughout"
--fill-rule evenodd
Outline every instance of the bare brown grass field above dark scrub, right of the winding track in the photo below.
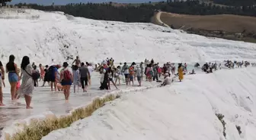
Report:
M 185 15 L 162 13 L 161 20 L 175 28 L 181 26 L 202 30 L 223 30 L 230 33 L 242 33 L 243 30 L 256 33 L 256 17 L 237 15 Z

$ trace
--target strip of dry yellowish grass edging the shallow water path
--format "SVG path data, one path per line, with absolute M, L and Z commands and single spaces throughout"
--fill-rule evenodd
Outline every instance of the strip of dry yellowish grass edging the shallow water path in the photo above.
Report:
M 88 106 L 78 108 L 66 117 L 54 117 L 43 121 L 32 120 L 29 126 L 24 126 L 23 131 L 14 134 L 12 137 L 6 135 L 6 140 L 40 140 L 53 130 L 69 127 L 75 121 L 91 116 L 94 110 L 104 106 L 104 103 L 119 97 L 119 95 L 107 95 L 104 98 L 95 98 Z

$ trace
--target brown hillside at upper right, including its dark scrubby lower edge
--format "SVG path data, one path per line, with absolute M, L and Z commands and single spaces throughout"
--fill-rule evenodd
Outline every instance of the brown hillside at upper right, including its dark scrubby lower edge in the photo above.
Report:
M 162 22 L 174 29 L 203 36 L 256 42 L 256 17 L 237 15 L 186 15 L 162 12 Z

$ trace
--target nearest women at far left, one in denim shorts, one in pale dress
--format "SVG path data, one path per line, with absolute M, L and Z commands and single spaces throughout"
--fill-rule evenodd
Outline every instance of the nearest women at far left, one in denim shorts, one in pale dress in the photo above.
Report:
M 11 85 L 11 100 L 17 100 L 21 96 L 25 98 L 26 107 L 30 109 L 30 102 L 34 90 L 34 79 L 32 74 L 34 70 L 30 65 L 30 58 L 24 56 L 21 61 L 21 70 L 18 68 L 18 65 L 14 62 L 14 55 L 9 56 L 9 61 L 6 64 L 6 67 L 3 67 L 2 62 L 0 62 L 1 68 L 1 83 L 0 83 L 0 106 L 4 106 L 3 103 L 3 93 L 2 87 L 5 87 L 5 72 L 8 73 L 8 81 Z M 21 72 L 21 73 L 20 73 Z M 21 81 L 21 85 L 20 85 Z

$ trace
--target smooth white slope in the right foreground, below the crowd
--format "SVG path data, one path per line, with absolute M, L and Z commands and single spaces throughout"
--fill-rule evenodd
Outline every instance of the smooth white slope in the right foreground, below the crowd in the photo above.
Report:
M 252 67 L 185 76 L 171 86 L 122 94 L 42 140 L 254 140 L 255 80 Z M 224 126 L 216 114 L 224 115 Z

